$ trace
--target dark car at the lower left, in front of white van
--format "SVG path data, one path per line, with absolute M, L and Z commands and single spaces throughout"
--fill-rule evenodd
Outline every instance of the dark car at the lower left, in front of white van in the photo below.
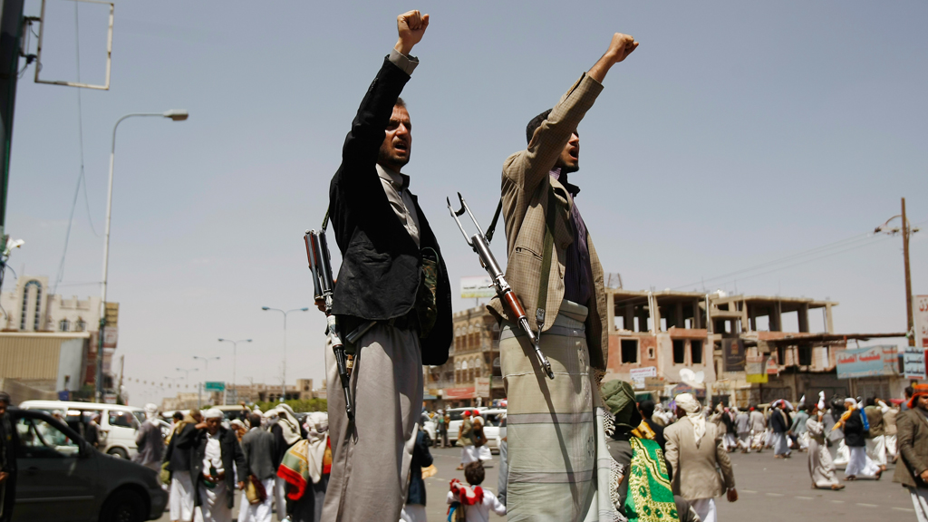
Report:
M 147 467 L 96 450 L 44 411 L 7 410 L 16 426 L 13 521 L 159 518 L 168 494 Z

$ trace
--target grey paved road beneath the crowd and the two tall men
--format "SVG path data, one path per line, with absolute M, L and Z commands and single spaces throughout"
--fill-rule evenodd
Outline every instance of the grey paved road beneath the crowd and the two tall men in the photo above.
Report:
M 445 495 L 452 478 L 464 479 L 457 471 L 460 460 L 458 449 L 432 449 L 438 475 L 426 479 L 428 515 L 432 522 L 445 520 Z M 735 481 L 741 499 L 728 503 L 716 499 L 718 518 L 722 521 L 795 522 L 796 520 L 835 522 L 910 522 L 915 513 L 909 493 L 893 483 L 893 464 L 883 479 L 844 482 L 841 491 L 811 489 L 806 453 L 793 453 L 792 459 L 773 458 L 772 451 L 763 453 L 731 453 Z M 499 456 L 488 463 L 484 486 L 496 492 Z M 839 478 L 844 474 L 839 470 Z M 238 515 L 238 497 L 236 499 Z M 502 520 L 504 516 L 490 515 Z M 167 514 L 159 520 L 167 522 Z

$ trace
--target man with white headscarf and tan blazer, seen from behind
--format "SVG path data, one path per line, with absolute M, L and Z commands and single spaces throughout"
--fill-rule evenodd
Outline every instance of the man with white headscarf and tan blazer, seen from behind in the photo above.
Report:
M 691 394 L 680 394 L 675 401 L 680 420 L 664 429 L 671 485 L 675 495 L 690 501 L 703 522 L 715 522 L 715 497 L 727 491 L 728 502 L 738 500 L 735 475 L 722 441 L 725 433 L 718 424 L 705 422 L 702 404 Z

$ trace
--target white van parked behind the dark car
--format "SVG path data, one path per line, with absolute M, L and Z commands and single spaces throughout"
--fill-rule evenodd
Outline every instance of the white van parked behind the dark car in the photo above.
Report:
M 135 406 L 73 402 L 66 400 L 27 400 L 21 410 L 40 410 L 62 415 L 61 421 L 84 437 L 85 426 L 94 415 L 100 416 L 100 442 L 98 449 L 108 455 L 130 459 L 138 452 L 135 435 L 145 422 L 145 411 Z

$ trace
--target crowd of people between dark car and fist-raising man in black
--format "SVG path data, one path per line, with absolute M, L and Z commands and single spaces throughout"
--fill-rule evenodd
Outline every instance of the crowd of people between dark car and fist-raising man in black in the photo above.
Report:
M 329 415 L 311 412 L 301 423 L 289 405 L 269 411 L 174 413 L 162 439 L 157 407 L 138 430 L 136 461 L 161 472 L 174 522 L 231 522 L 237 490 L 238 522 L 321 520 L 331 468 Z

